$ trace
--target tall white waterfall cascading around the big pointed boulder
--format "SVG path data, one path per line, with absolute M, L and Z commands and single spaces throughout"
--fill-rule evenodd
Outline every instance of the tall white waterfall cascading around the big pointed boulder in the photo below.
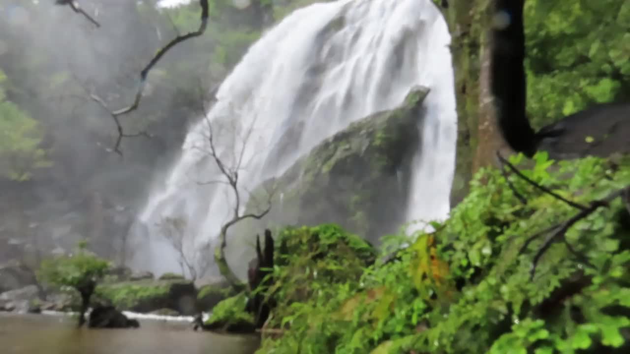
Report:
M 179 270 L 156 224 L 165 217 L 185 220 L 190 253 L 216 237 L 234 207 L 229 186 L 203 183 L 222 178 L 208 154 L 209 127 L 226 167 L 240 166 L 246 197 L 246 190 L 282 174 L 351 122 L 398 106 L 415 85 L 431 91 L 408 219 L 447 217 L 457 130 L 449 43 L 431 0 L 341 0 L 287 16 L 249 49 L 206 119 L 188 133 L 166 184 L 140 215 L 150 245 L 135 265 L 156 273 Z M 246 200 L 240 202 L 243 207 Z

